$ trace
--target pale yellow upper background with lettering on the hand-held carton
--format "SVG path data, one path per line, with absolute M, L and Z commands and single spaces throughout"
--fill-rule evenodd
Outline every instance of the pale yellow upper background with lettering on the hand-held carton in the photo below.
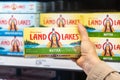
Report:
M 76 28 L 25 28 L 24 40 L 46 45 L 55 34 L 62 44 L 70 44 L 80 40 L 79 32 Z

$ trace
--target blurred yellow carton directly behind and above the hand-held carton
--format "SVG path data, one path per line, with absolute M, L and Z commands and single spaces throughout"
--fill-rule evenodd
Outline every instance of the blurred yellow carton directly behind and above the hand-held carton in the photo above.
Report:
M 40 27 L 76 27 L 83 24 L 82 13 L 41 13 Z

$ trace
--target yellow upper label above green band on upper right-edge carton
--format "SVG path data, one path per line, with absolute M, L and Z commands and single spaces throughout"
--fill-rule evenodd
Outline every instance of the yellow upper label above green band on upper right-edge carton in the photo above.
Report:
M 120 13 L 86 13 L 84 26 L 94 28 L 89 32 L 119 32 Z

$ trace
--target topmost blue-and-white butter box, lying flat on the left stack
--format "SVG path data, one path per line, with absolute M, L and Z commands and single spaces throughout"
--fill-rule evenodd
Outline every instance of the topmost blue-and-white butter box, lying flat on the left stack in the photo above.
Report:
M 40 13 L 43 12 L 42 2 L 7 1 L 0 2 L 0 13 Z

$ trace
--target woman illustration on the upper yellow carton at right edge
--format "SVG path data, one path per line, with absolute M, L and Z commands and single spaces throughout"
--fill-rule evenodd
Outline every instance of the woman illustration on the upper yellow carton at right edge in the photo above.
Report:
M 109 15 L 106 16 L 105 21 L 103 21 L 103 29 L 102 32 L 114 32 L 114 28 L 112 27 L 112 20 L 109 18 Z

